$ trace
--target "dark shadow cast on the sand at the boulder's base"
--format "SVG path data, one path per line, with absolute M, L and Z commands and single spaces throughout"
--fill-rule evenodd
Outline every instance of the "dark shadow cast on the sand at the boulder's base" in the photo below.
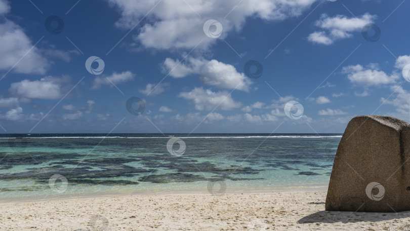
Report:
M 344 212 L 344 211 L 319 211 L 298 220 L 298 223 L 351 223 L 361 221 L 383 221 L 410 217 L 410 211 L 398 213 L 372 213 L 372 212 Z

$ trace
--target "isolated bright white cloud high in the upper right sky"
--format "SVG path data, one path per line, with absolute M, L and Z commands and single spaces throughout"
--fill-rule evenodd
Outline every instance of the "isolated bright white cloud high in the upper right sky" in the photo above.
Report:
M 349 18 L 345 15 L 329 17 L 322 14 L 320 19 L 315 22 L 315 25 L 323 30 L 309 34 L 308 40 L 312 43 L 330 45 L 336 40 L 352 37 L 352 32 L 360 31 L 363 26 L 372 23 L 375 19 L 375 15 L 368 13 L 357 18 Z

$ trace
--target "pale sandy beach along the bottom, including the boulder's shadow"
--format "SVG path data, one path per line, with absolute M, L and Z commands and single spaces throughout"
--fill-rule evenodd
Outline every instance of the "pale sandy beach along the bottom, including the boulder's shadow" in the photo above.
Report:
M 409 230 L 410 212 L 324 211 L 326 191 L 4 203 L 0 230 Z

